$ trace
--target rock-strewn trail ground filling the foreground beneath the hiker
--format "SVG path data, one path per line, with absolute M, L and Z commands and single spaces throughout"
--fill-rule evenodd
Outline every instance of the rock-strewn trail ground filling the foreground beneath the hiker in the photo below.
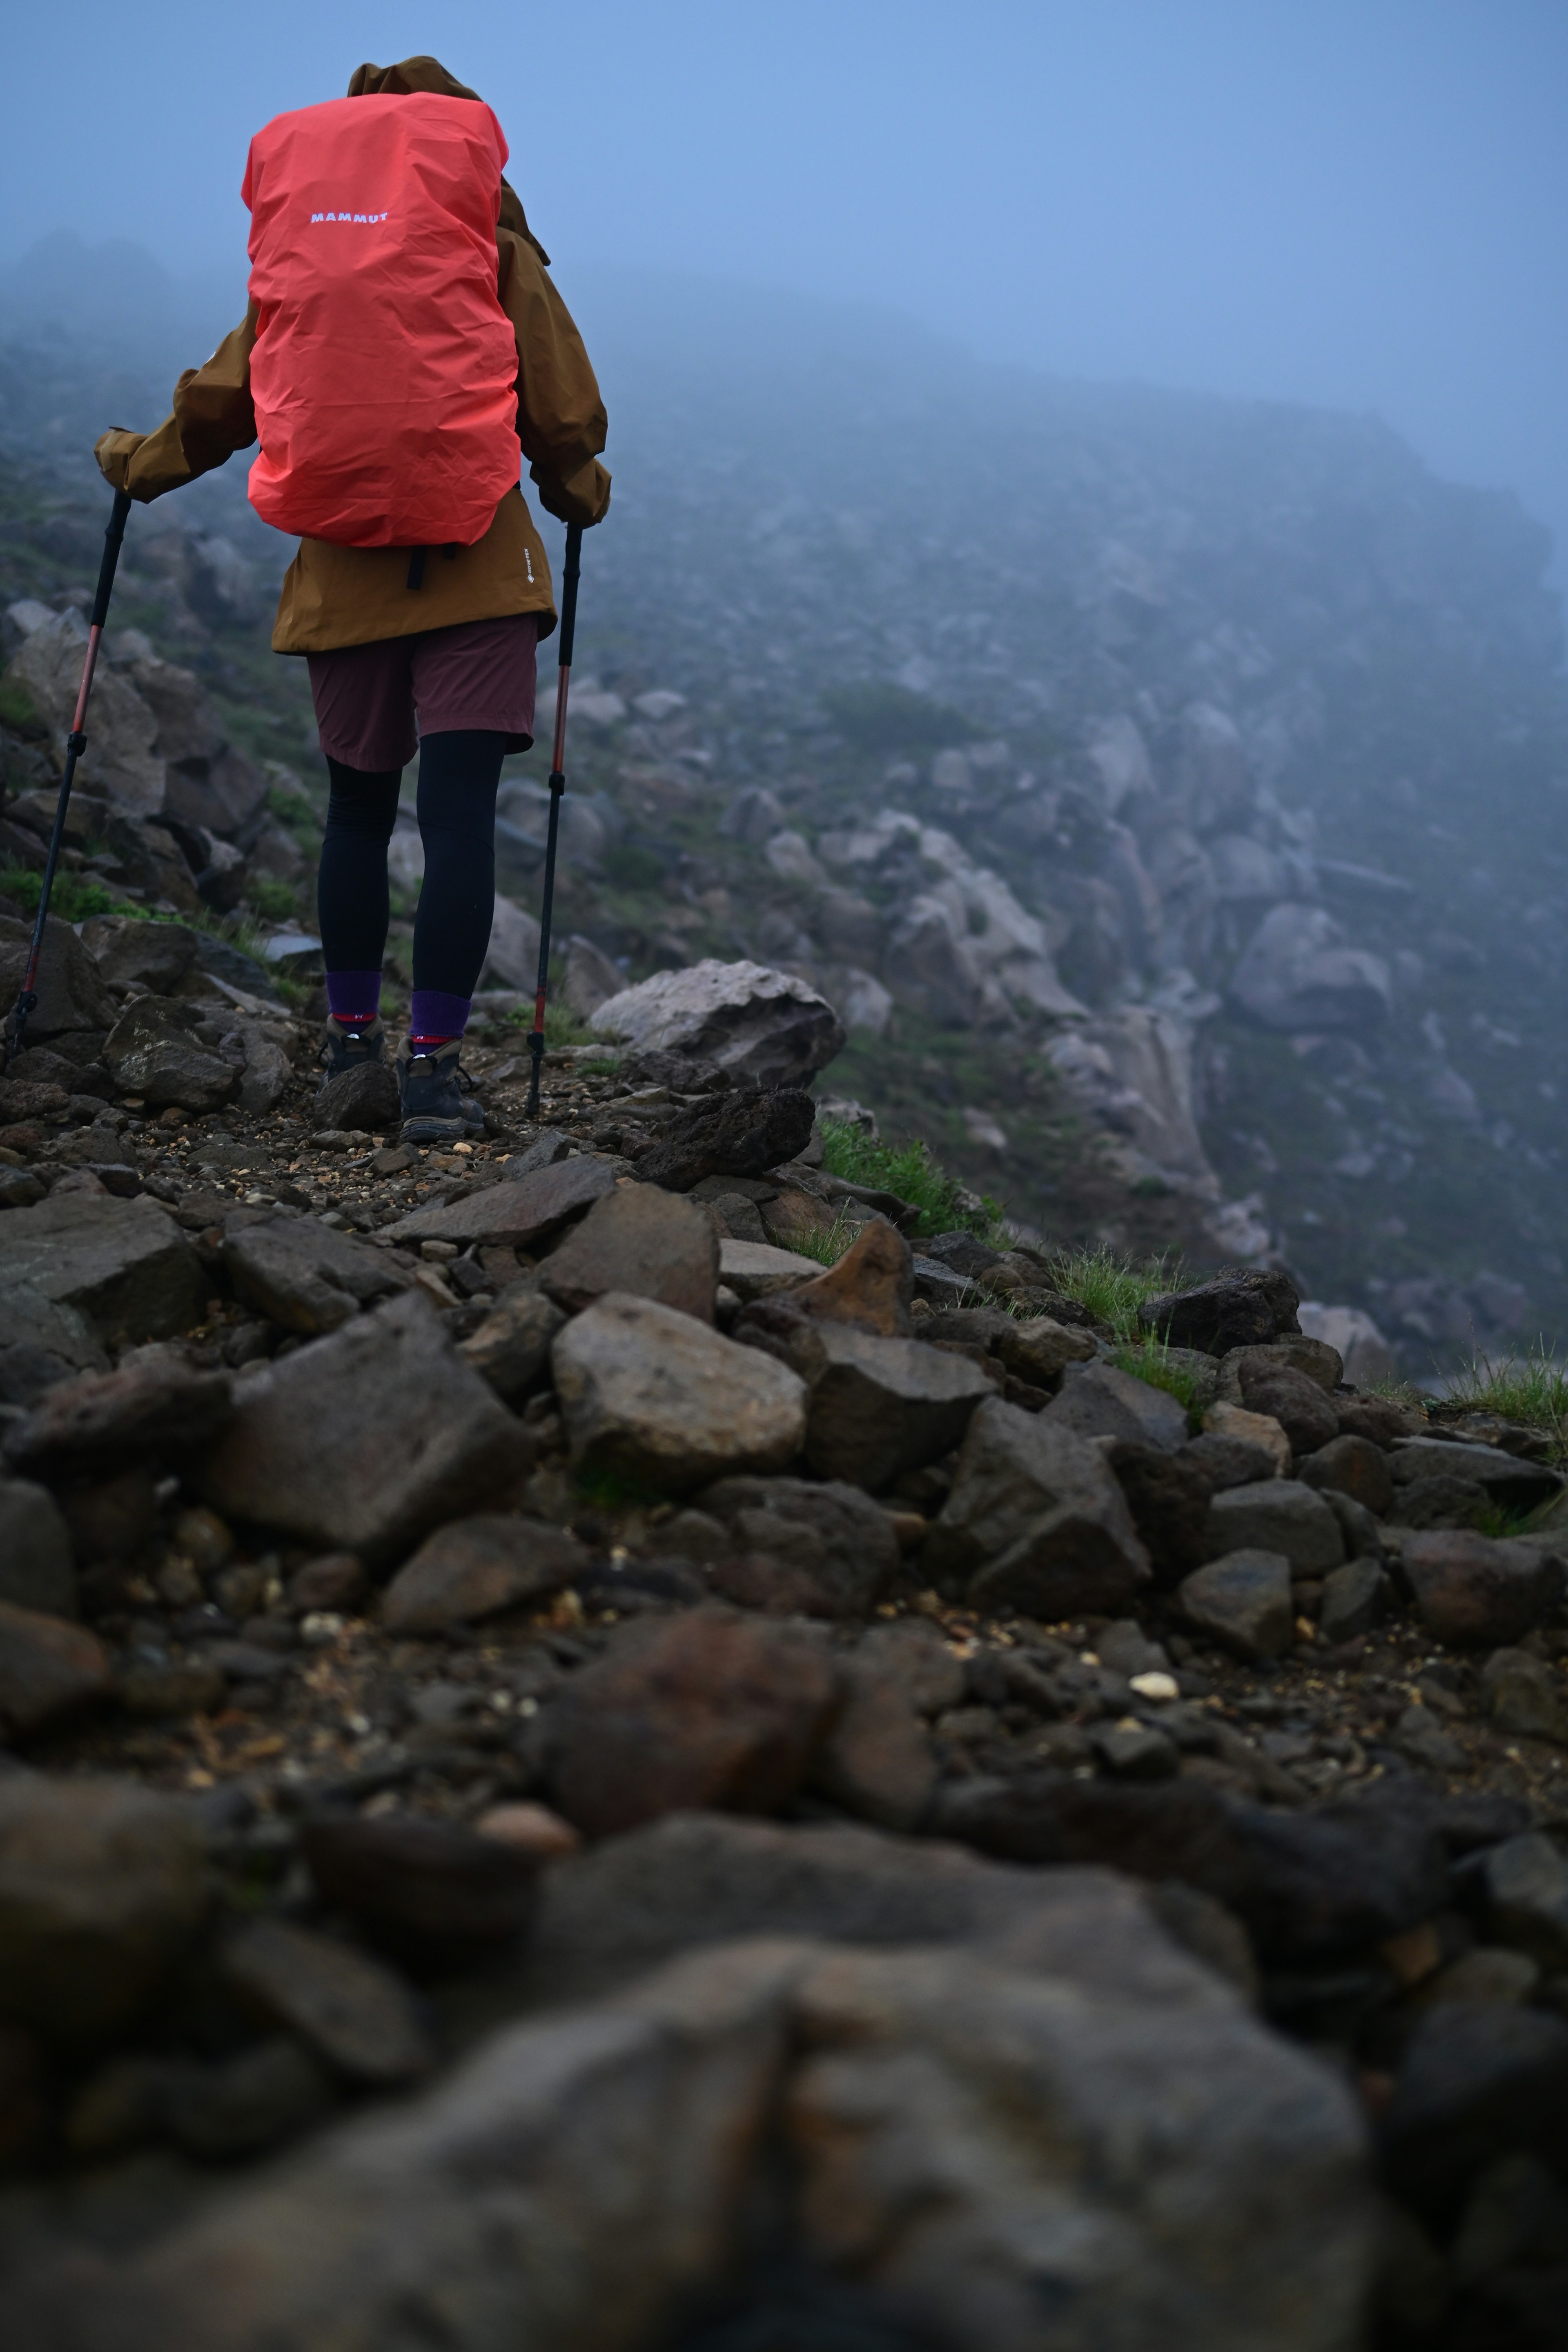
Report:
M 421 1152 L 202 955 L 0 1082 L 7 2343 L 1554 2343 L 1552 1435 L 835 1176 L 802 981 Z

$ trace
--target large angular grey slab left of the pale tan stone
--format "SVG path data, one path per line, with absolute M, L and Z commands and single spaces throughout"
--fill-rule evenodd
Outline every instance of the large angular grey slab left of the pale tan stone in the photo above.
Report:
M 235 1421 L 195 1484 L 226 1519 L 378 1562 L 482 1505 L 527 1463 L 517 1421 L 425 1296 L 407 1291 L 242 1374 Z

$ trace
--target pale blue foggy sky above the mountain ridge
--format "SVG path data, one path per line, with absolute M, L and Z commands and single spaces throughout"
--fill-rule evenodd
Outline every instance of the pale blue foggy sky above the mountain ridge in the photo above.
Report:
M 38 9 L 7 40 L 0 266 L 61 228 L 134 240 L 221 313 L 249 134 L 416 49 L 496 106 L 569 296 L 679 268 L 985 360 L 1378 412 L 1516 489 L 1563 579 L 1554 0 Z

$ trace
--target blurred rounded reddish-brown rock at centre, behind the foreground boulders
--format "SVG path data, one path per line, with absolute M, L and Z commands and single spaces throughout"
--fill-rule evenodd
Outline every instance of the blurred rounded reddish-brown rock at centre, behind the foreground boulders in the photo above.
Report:
M 823 1644 L 696 1609 L 628 1625 L 550 1703 L 557 1809 L 585 1837 L 712 1806 L 771 1813 L 811 1771 L 839 1689 Z

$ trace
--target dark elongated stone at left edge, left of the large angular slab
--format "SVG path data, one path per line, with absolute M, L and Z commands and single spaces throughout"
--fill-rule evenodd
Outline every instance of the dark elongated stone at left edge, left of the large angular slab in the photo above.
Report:
M 148 1461 L 183 1461 L 228 1423 L 230 1376 L 181 1359 L 125 1364 L 52 1388 L 7 1430 L 5 1451 L 35 1477 L 101 1479 Z

